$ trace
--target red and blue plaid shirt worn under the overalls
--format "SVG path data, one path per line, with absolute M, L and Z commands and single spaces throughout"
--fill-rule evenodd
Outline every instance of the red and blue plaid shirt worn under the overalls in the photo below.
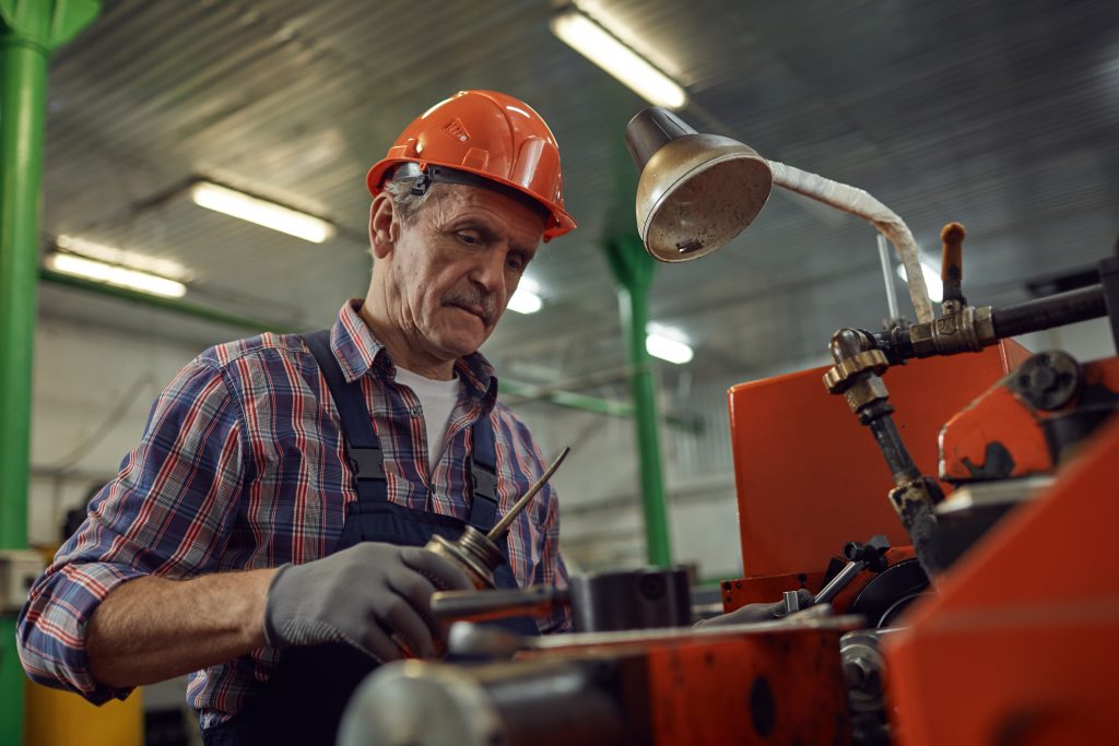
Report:
M 446 445 L 427 465 L 420 402 L 397 386 L 388 353 L 358 315 L 342 306 L 331 347 L 347 381 L 360 380 L 385 455 L 388 499 L 466 519 L 470 506 L 470 429 L 488 416 L 497 440 L 499 511 L 544 472 L 528 429 L 496 402 L 497 378 L 481 355 L 455 363 L 463 383 Z M 301 339 L 263 334 L 206 350 L 152 407 L 140 445 L 90 506 L 31 588 L 19 618 L 20 658 L 40 683 L 94 702 L 129 690 L 90 674 L 85 627 L 116 585 L 144 575 L 186 579 L 208 573 L 307 563 L 329 554 L 355 501 L 338 414 Z M 520 585 L 566 586 L 558 513 L 546 487 L 509 532 Z M 542 625 L 567 627 L 558 613 Z M 201 726 L 236 714 L 282 652 L 263 648 L 190 676 L 187 699 Z

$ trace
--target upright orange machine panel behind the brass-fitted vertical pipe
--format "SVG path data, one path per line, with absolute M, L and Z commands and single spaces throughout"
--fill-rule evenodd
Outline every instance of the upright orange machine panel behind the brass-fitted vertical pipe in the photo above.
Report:
M 937 472 L 937 434 L 944 422 L 1028 356 L 1017 342 L 1003 341 L 978 355 L 890 371 L 899 427 L 924 473 Z M 885 500 L 890 471 L 858 421 L 840 402 L 826 398 L 820 385 L 826 370 L 731 388 L 745 576 L 723 583 L 725 611 L 780 598 L 791 588 L 819 591 L 829 560 L 847 541 L 881 533 L 895 547 L 909 544 Z

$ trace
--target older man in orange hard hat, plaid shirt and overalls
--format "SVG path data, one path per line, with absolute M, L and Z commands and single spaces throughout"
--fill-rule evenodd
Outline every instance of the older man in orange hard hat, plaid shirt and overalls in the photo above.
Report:
M 544 471 L 477 350 L 540 239 L 575 223 L 551 131 L 500 93 L 425 112 L 368 186 L 365 300 L 330 330 L 207 350 L 168 386 L 31 591 L 34 679 L 103 702 L 194 671 L 207 744 L 333 743 L 369 670 L 433 653 L 431 594 L 469 584 L 420 547 L 486 530 Z M 557 533 L 545 490 L 498 585 L 565 585 Z

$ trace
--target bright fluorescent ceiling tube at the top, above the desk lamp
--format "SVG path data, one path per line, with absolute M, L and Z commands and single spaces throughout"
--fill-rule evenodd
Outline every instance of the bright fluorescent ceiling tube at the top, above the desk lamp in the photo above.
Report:
M 688 103 L 675 81 L 577 10 L 553 17 L 552 32 L 655 106 L 683 108 Z

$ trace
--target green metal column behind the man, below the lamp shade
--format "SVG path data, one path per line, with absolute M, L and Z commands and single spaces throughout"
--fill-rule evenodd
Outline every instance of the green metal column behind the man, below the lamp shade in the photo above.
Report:
M 650 565 L 673 564 L 665 508 L 665 483 L 660 466 L 660 437 L 657 414 L 657 387 L 652 359 L 645 348 L 649 322 L 649 287 L 656 261 L 636 235 L 624 235 L 606 245 L 606 259 L 618 282 L 626 352 L 632 369 L 633 422 L 637 426 L 638 457 L 641 469 L 641 508 L 645 511 L 646 548 Z

